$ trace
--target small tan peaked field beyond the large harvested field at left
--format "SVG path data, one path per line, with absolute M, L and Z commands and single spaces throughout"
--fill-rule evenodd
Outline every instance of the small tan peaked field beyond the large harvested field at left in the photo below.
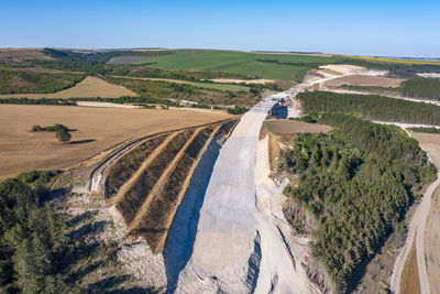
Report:
M 86 77 L 74 87 L 51 94 L 4 94 L 0 98 L 119 98 L 122 96 L 138 96 L 135 92 L 127 89 L 123 86 L 110 84 L 98 77 Z

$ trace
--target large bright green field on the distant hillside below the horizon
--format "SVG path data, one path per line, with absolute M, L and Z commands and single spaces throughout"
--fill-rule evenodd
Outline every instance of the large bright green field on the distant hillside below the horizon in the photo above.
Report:
M 277 61 L 279 63 L 258 62 L 257 59 Z M 235 51 L 196 51 L 194 53 L 176 52 L 174 54 L 147 58 L 134 64 L 148 64 L 161 69 L 213 70 L 284 80 L 302 80 L 312 64 L 333 63 L 338 58 L 310 55 L 263 54 Z M 292 63 L 280 64 L 280 63 Z

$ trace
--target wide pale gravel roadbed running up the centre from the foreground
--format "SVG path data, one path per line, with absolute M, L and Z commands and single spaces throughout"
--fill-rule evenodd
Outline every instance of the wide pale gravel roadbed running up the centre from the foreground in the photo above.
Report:
M 177 293 L 250 293 L 255 287 L 261 259 L 255 151 L 267 116 L 262 109 L 246 112 L 220 150 L 200 211 L 193 255 L 180 273 Z

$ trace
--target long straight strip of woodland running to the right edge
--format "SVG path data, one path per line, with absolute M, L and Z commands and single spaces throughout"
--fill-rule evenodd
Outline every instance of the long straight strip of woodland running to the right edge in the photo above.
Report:
M 407 101 L 378 95 L 306 91 L 298 95 L 306 111 L 360 115 L 361 117 L 406 123 L 440 124 L 440 106 Z

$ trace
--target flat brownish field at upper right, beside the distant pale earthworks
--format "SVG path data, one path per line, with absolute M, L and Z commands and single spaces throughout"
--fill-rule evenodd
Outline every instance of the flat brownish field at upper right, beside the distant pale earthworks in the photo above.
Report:
M 342 85 L 351 85 L 351 86 L 398 88 L 402 81 L 404 80 L 405 79 L 392 78 L 392 77 L 353 75 L 329 80 L 326 83 L 326 86 L 340 87 Z

